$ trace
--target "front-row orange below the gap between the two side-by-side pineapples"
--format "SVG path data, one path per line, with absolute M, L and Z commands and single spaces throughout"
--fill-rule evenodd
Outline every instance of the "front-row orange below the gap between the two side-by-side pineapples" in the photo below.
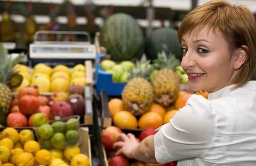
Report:
M 138 125 L 140 129 L 148 127 L 157 129 L 163 125 L 163 117 L 156 112 L 147 112 L 140 117 Z

